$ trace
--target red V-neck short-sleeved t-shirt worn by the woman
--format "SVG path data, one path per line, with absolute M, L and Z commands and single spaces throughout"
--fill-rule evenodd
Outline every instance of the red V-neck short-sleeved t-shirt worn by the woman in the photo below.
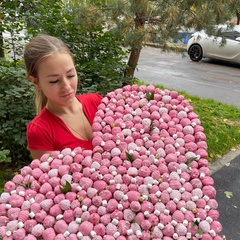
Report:
M 82 103 L 83 111 L 92 125 L 102 96 L 89 93 L 79 95 L 77 98 Z M 28 124 L 27 141 L 30 150 L 61 151 L 64 148 L 93 148 L 91 140 L 75 137 L 62 119 L 52 114 L 46 107 Z

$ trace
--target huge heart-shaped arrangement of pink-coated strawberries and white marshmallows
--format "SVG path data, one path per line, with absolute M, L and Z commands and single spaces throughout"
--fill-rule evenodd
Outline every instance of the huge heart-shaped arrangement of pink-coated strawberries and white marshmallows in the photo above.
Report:
M 3 240 L 221 240 L 204 129 L 175 91 L 102 99 L 93 150 L 44 154 L 6 182 Z

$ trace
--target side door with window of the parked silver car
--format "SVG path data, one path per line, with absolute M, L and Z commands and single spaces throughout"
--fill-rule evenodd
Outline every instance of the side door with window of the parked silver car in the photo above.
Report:
M 211 57 L 228 61 L 235 61 L 236 58 L 239 58 L 240 61 L 240 42 L 236 41 L 237 37 L 240 37 L 240 33 L 231 31 L 223 32 L 222 37 L 214 38 Z

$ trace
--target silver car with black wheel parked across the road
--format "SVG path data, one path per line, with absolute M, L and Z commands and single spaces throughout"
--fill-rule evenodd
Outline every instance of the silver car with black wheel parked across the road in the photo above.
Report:
M 187 43 L 187 52 L 192 61 L 213 58 L 240 63 L 240 26 L 221 28 L 219 36 L 209 36 L 204 31 L 195 32 Z

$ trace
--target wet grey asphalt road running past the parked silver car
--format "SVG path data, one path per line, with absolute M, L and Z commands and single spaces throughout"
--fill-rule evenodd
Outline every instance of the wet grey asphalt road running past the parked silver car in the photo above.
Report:
M 146 83 L 240 107 L 240 64 L 211 59 L 192 62 L 187 54 L 145 47 L 134 76 Z

